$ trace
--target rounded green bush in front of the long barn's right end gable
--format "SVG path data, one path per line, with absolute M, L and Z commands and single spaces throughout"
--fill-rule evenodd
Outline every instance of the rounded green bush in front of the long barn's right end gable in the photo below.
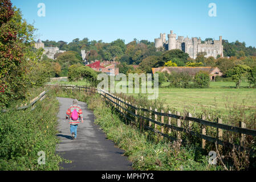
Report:
M 207 72 L 200 71 L 194 76 L 194 86 L 196 88 L 209 88 L 210 76 Z

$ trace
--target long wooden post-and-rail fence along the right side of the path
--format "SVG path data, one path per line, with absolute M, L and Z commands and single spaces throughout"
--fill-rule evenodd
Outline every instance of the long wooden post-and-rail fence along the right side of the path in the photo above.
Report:
M 132 123 L 139 123 L 140 129 L 144 128 L 147 130 L 151 130 L 157 134 L 160 134 L 161 137 L 169 138 L 170 140 L 181 139 L 181 134 L 186 133 L 194 137 L 200 138 L 202 148 L 205 148 L 206 141 L 208 141 L 216 143 L 217 145 L 235 148 L 237 150 L 250 150 L 250 148 L 243 147 L 245 135 L 251 135 L 253 137 L 256 137 L 256 130 L 246 129 L 246 125 L 243 122 L 239 122 L 239 127 L 230 126 L 223 124 L 221 118 L 217 118 L 217 122 L 211 122 L 206 121 L 204 116 L 202 116 L 201 118 L 194 118 L 190 113 L 182 116 L 178 111 L 175 114 L 171 113 L 170 111 L 168 111 L 168 113 L 164 113 L 163 110 L 157 111 L 157 109 L 152 109 L 151 107 L 147 109 L 133 106 L 130 102 L 124 101 L 123 98 L 117 97 L 115 96 L 115 94 L 106 92 L 105 90 L 98 90 L 95 88 L 73 85 L 62 85 L 60 87 L 65 88 L 66 90 L 78 89 L 80 91 L 99 93 L 100 96 L 103 97 L 105 101 L 111 103 L 111 105 L 115 107 L 115 109 L 119 111 L 119 113 L 123 115 L 125 119 L 129 119 Z M 138 114 L 138 111 L 140 111 L 140 113 L 142 114 Z M 131 118 L 130 115 L 132 115 L 134 118 Z M 149 117 L 147 117 L 147 115 L 149 115 Z M 155 115 L 154 119 L 152 119 L 152 115 Z M 164 122 L 164 120 L 166 120 L 165 118 L 168 118 L 168 123 Z M 174 125 L 174 123 L 171 121 L 172 118 L 175 119 L 176 125 Z M 200 124 L 200 133 L 191 130 L 190 126 L 193 124 L 193 122 Z M 155 124 L 155 126 L 153 124 Z M 157 126 L 160 126 L 159 130 L 157 129 Z M 208 136 L 206 134 L 206 126 L 216 128 L 217 135 L 214 137 Z M 238 133 L 240 139 L 239 144 L 232 144 L 222 140 L 224 130 Z M 176 138 L 170 136 L 170 133 L 172 132 L 176 132 Z

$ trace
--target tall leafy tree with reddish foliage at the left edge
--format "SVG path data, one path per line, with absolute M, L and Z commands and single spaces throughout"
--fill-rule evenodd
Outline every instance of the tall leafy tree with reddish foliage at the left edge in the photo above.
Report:
M 40 61 L 42 50 L 32 48 L 35 28 L 22 19 L 10 0 L 0 3 L 0 107 L 25 100 L 30 88 L 50 80 L 49 61 Z

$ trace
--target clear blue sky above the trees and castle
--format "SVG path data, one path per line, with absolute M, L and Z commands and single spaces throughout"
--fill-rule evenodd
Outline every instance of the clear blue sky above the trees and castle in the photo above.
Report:
M 256 47 L 256 1 L 254 0 L 11 0 L 23 18 L 38 28 L 36 39 L 75 38 L 112 42 L 136 38 L 151 42 L 160 33 L 173 30 L 179 36 L 245 42 Z M 38 16 L 38 4 L 46 5 L 46 16 Z M 209 3 L 217 6 L 210 17 Z M 167 36 L 166 36 L 167 39 Z

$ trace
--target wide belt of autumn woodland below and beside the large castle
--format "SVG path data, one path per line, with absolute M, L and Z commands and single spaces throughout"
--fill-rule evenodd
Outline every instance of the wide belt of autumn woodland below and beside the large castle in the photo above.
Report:
M 58 62 L 62 67 L 61 76 L 66 76 L 68 67 L 72 64 L 82 63 L 82 57 L 80 51 L 82 49 L 90 51 L 86 59 L 88 61 L 94 60 L 115 60 L 120 61 L 119 69 L 121 73 L 127 72 L 147 72 L 151 73 L 152 67 L 160 66 L 210 66 L 218 67 L 226 75 L 226 72 L 234 65 L 242 62 L 249 67 L 255 65 L 256 48 L 246 47 L 246 44 L 238 41 L 229 43 L 227 40 L 222 40 L 224 45 L 224 56 L 217 56 L 206 58 L 205 52 L 200 52 L 196 59 L 191 59 L 187 53 L 182 52 L 179 49 L 172 51 L 157 51 L 154 43 L 148 42 L 148 40 L 133 40 L 132 42 L 125 44 L 124 40 L 117 39 L 111 43 L 104 43 L 101 40 L 91 40 L 84 38 L 83 40 L 74 39 L 71 43 L 63 41 L 55 42 L 46 40 L 45 46 L 58 46 L 62 50 L 66 50 L 66 53 L 55 55 L 55 62 Z M 60 56 L 63 55 L 63 56 Z M 226 58 L 229 56 L 230 58 Z M 167 64 L 168 61 L 172 61 Z M 174 64 L 172 64 L 174 63 Z M 239 63 L 240 64 L 240 63 Z M 131 65 L 139 65 L 139 68 L 135 69 Z

